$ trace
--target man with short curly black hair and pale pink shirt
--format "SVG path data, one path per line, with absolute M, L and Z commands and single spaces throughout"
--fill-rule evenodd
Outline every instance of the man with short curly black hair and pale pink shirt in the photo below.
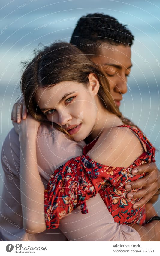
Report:
M 76 44 L 77 47 L 80 47 L 83 50 L 83 52 L 85 52 L 85 53 L 88 51 L 87 54 L 89 54 L 89 57 L 96 63 L 96 65 L 99 65 L 99 66 L 101 65 L 101 68 L 104 68 L 104 70 L 107 71 L 106 73 L 107 73 L 107 76 L 109 77 L 109 81 L 110 81 L 111 94 L 112 94 L 113 98 L 115 99 L 115 103 L 117 104 L 117 106 L 119 106 L 120 100 L 122 99 L 122 94 L 126 93 L 126 91 L 127 91 L 126 75 L 128 75 L 130 68 L 131 68 L 130 47 L 127 47 L 127 45 L 129 43 L 131 43 L 132 40 L 131 39 L 129 40 L 128 39 L 129 36 L 128 37 L 126 36 L 126 40 L 124 40 L 124 42 L 120 41 L 120 43 L 117 45 L 115 43 L 115 42 L 119 41 L 119 38 L 118 38 L 119 35 L 117 33 L 117 40 L 114 39 L 114 40 L 107 41 L 106 39 L 108 37 L 111 37 L 111 34 L 112 34 L 112 33 L 111 34 L 109 33 L 109 35 L 108 35 L 107 30 L 106 30 L 106 33 L 104 31 L 104 34 L 102 34 L 102 31 L 101 31 L 101 36 L 99 36 L 99 35 L 97 36 L 95 33 L 97 30 L 100 30 L 101 27 L 111 26 L 111 24 L 112 24 L 110 31 L 113 32 L 115 30 L 115 28 L 113 28 L 113 27 L 116 26 L 116 29 L 117 29 L 117 24 L 119 24 L 115 19 L 110 17 L 109 20 L 106 20 L 106 18 L 103 19 L 103 26 L 102 26 L 100 24 L 102 21 L 101 15 L 103 15 L 103 14 L 92 14 L 91 20 L 89 19 L 90 14 L 88 16 L 86 16 L 86 18 L 84 18 L 84 17 L 81 18 L 80 21 L 78 21 L 77 27 L 74 30 L 74 33 L 73 33 L 73 36 L 71 39 L 71 43 Z M 96 18 L 94 19 L 94 17 L 96 17 Z M 107 16 L 107 17 L 109 17 L 109 16 Z M 95 26 L 91 25 L 93 20 L 95 21 L 95 24 L 96 24 Z M 84 24 L 83 24 L 83 21 L 84 21 Z M 87 24 L 87 21 L 89 22 L 89 25 Z M 108 21 L 109 21 L 109 23 L 108 23 Z M 79 26 L 79 22 L 80 22 L 81 26 Z M 110 24 L 110 22 L 111 22 L 111 24 Z M 113 23 L 114 23 L 114 26 L 113 26 Z M 79 30 L 79 27 L 81 27 L 81 30 Z M 87 36 L 87 33 L 86 33 L 87 27 L 89 27 L 89 32 L 87 32 L 87 33 L 89 35 L 91 35 L 89 43 L 87 43 L 88 42 L 87 40 L 89 39 L 89 37 Z M 129 32 L 121 24 L 119 24 L 119 28 L 120 28 L 119 30 L 121 31 L 122 34 L 124 34 L 125 32 Z M 79 33 L 79 35 L 78 35 L 78 33 Z M 84 33 L 84 40 L 82 38 L 83 33 Z M 80 36 L 80 37 L 78 37 L 78 36 Z M 101 38 L 103 38 L 103 40 L 100 40 Z M 79 43 L 77 43 L 78 41 L 76 43 L 74 42 L 74 40 L 76 40 L 76 39 L 80 40 Z M 85 42 L 86 42 L 86 44 L 90 44 L 90 47 L 84 46 Z M 104 47 L 102 46 L 102 42 L 104 44 Z M 110 46 L 111 43 L 112 43 L 112 45 Z M 94 47 L 93 47 L 91 44 L 96 44 L 96 45 L 94 45 Z M 113 49 L 112 47 L 114 49 L 116 49 L 115 53 L 117 52 L 120 55 L 115 55 L 113 58 L 112 54 L 114 51 L 112 50 Z M 105 52 L 103 52 L 104 49 L 107 49 L 109 51 L 106 51 L 106 53 L 105 53 Z M 97 53 L 95 52 L 95 50 L 97 51 Z M 121 52 L 123 52 L 123 53 L 121 54 Z M 126 58 L 124 57 L 125 55 L 127 56 Z M 110 62 L 111 60 L 112 60 L 112 62 Z M 106 62 L 107 62 L 107 65 L 106 65 Z M 116 76 L 115 76 L 115 74 L 116 74 Z M 12 119 L 14 119 L 14 121 L 16 121 L 15 113 L 19 106 L 20 106 L 20 104 L 15 104 L 15 106 L 14 106 L 13 113 L 12 113 Z M 24 115 L 26 115 L 25 111 L 26 111 L 25 108 L 23 108 Z M 19 116 L 19 119 L 20 119 L 20 116 Z M 53 169 L 56 168 L 56 166 L 58 167 L 61 164 L 65 163 L 65 161 L 68 160 L 69 158 L 71 158 L 72 156 L 77 156 L 77 155 L 81 154 L 80 150 L 82 149 L 82 147 L 84 145 L 83 142 L 77 146 L 77 151 L 70 151 L 72 153 L 68 154 L 66 152 L 69 152 L 69 150 L 74 150 L 75 145 L 73 145 L 73 144 L 68 145 L 68 140 L 66 140 L 65 142 L 64 142 L 64 140 L 66 140 L 66 138 L 64 138 L 64 136 L 62 137 L 62 134 L 60 134 L 60 132 L 58 132 L 57 130 L 55 131 L 54 128 L 50 128 L 46 125 L 44 128 L 41 126 L 39 129 L 39 133 L 37 135 L 37 158 L 38 158 L 37 160 L 38 160 L 39 172 L 41 174 L 41 177 L 42 177 L 45 185 L 47 184 L 49 176 L 53 172 Z M 60 148 L 60 150 L 58 150 L 57 141 L 58 142 L 63 141 L 63 143 L 64 143 L 64 146 L 62 147 L 62 149 Z M 8 154 L 6 153 L 5 155 L 3 155 L 5 153 L 5 151 L 7 150 L 7 147 L 10 147 L 10 152 Z M 56 157 L 53 156 L 55 148 L 57 148 Z M 65 150 L 63 150 L 63 148 Z M 68 151 L 66 151 L 67 148 L 68 148 Z M 65 155 L 64 155 L 64 151 L 65 151 Z M 62 160 L 60 160 L 58 162 L 57 159 L 58 159 L 59 155 L 62 157 Z M 56 160 L 57 160 L 57 162 L 55 162 Z M 9 167 L 8 167 L 9 169 L 7 169 L 7 171 L 6 171 L 6 163 L 9 164 Z M 46 163 L 47 163 L 47 165 L 46 165 Z M 17 136 L 17 134 L 15 134 L 14 129 L 12 129 L 10 131 L 10 133 L 8 134 L 6 140 L 3 144 L 2 164 L 3 164 L 3 169 L 5 171 L 5 181 L 4 181 L 5 185 L 4 185 L 4 191 L 3 191 L 3 195 L 2 195 L 2 201 L 1 201 L 1 209 L 4 209 L 4 210 L 2 212 L 2 216 L 1 216 L 1 220 L 0 220 L 0 226 L 1 226 L 0 230 L 2 233 L 2 238 L 4 240 L 10 240 L 10 239 L 12 241 L 14 241 L 14 240 L 18 240 L 18 241 L 20 241 L 20 240 L 23 240 L 23 241 L 26 241 L 26 240 L 66 241 L 67 239 L 68 240 L 77 239 L 80 241 L 83 240 L 83 238 L 81 238 L 81 234 L 76 233 L 77 230 L 80 230 L 78 228 L 77 228 L 76 232 L 75 232 L 75 230 L 71 230 L 71 229 L 70 229 L 71 232 L 68 232 L 64 228 L 62 228 L 63 233 L 60 232 L 60 230 L 56 230 L 56 231 L 50 230 L 50 232 L 46 231 L 46 232 L 43 232 L 40 234 L 29 234 L 29 235 L 23 229 L 23 217 L 22 217 L 22 209 L 21 209 L 21 203 L 20 203 L 20 191 L 19 191 L 19 189 L 20 189 L 19 188 L 20 187 L 20 184 L 19 184 L 20 183 L 20 169 L 19 169 L 20 145 L 19 145 L 18 136 Z M 152 170 L 150 169 L 150 166 L 151 166 Z M 136 194 L 134 195 L 134 198 L 143 196 L 143 194 L 145 194 L 146 191 L 149 192 L 149 194 L 147 196 L 144 196 L 143 199 L 141 199 L 141 202 L 139 201 L 137 203 L 139 206 L 140 206 L 140 204 L 141 205 L 143 204 L 142 200 L 147 201 L 148 199 L 150 199 L 152 197 L 152 195 L 155 194 L 157 187 L 159 186 L 159 185 L 157 185 L 157 182 L 155 182 L 157 179 L 157 169 L 154 170 L 155 169 L 154 164 L 152 164 L 150 166 L 146 164 L 146 165 L 138 168 L 138 173 L 149 172 L 149 174 L 147 175 L 148 177 L 150 177 L 149 179 L 146 176 L 143 179 L 138 180 L 137 186 L 135 186 L 131 183 L 132 188 L 144 187 L 143 189 L 141 189 L 141 191 L 137 192 L 137 196 L 136 196 Z M 9 174 L 13 175 L 13 176 L 10 176 L 10 179 L 8 178 Z M 13 179 L 11 179 L 12 177 L 13 177 Z M 148 180 L 151 181 L 151 184 L 149 185 L 149 187 L 144 186 L 144 183 L 146 183 Z M 128 195 L 128 197 L 129 197 L 129 195 Z M 95 198 L 97 198 L 97 197 L 95 197 Z M 94 199 L 94 200 L 96 200 L 96 199 Z M 91 210 L 92 210 L 92 208 L 94 208 L 93 206 L 95 204 L 96 203 L 94 201 L 94 203 L 90 205 Z M 91 210 L 90 210 L 90 212 L 91 212 Z M 94 212 L 94 214 L 95 213 L 96 213 L 96 211 Z M 106 208 L 105 208 L 104 213 L 107 214 Z M 76 213 L 76 214 L 78 214 L 78 213 Z M 91 217 L 92 216 L 93 216 L 93 214 L 91 214 Z M 100 213 L 98 213 L 98 216 L 100 216 Z M 104 217 L 109 218 L 110 216 L 107 216 L 107 215 L 101 216 L 101 219 L 104 219 Z M 16 218 L 16 221 L 15 221 L 15 218 Z M 64 220 L 62 220 L 62 221 L 64 222 L 65 219 L 66 218 L 64 218 Z M 11 224 L 11 222 L 12 222 L 12 224 Z M 6 223 L 7 223 L 7 225 L 6 225 Z M 13 223 L 14 223 L 14 225 L 13 225 Z M 89 225 L 89 220 L 87 220 L 87 222 L 85 222 L 85 220 L 83 220 L 83 227 L 84 227 L 83 230 L 85 230 L 85 231 L 83 231 L 83 236 L 85 237 L 85 240 L 87 240 L 87 239 L 90 239 L 90 240 L 100 239 L 101 240 L 101 236 L 98 237 L 98 226 L 96 228 L 94 228 L 95 227 L 94 225 L 96 223 L 97 223 L 97 221 L 94 220 L 94 223 L 92 223 L 91 228 L 90 229 L 87 228 L 87 231 L 90 232 L 89 234 L 92 233 L 92 235 L 87 234 L 85 236 L 85 234 L 86 234 L 85 232 L 87 232 L 86 226 Z M 145 230 L 143 230 L 142 233 L 139 233 L 140 236 L 138 237 L 138 234 L 134 229 L 132 229 L 130 227 L 127 229 L 126 225 L 120 226 L 118 223 L 115 223 L 114 220 L 111 220 L 110 223 L 112 223 L 112 224 L 114 223 L 114 228 L 113 228 L 113 225 L 112 225 L 112 227 L 109 227 L 109 226 L 105 227 L 105 225 L 103 223 L 103 230 L 104 230 L 105 235 L 108 232 L 107 228 L 110 229 L 109 237 L 106 237 L 104 235 L 104 238 L 107 240 L 110 239 L 112 241 L 127 241 L 127 240 L 128 241 L 136 241 L 136 240 L 140 239 L 140 236 L 145 237 Z M 159 223 L 157 221 L 155 224 L 159 225 Z M 17 225 L 19 225 L 19 226 L 17 227 Z M 101 223 L 99 223 L 98 225 L 101 225 Z M 155 234 L 155 229 L 153 228 L 152 224 L 150 224 L 150 225 L 147 224 L 147 225 L 146 225 L 146 232 L 148 232 L 149 230 L 153 231 L 153 233 L 150 231 L 151 237 L 148 237 L 148 236 L 146 237 L 146 239 L 149 240 L 149 239 L 152 239 L 152 234 Z M 70 227 L 71 227 L 71 225 L 70 225 Z M 140 229 L 142 230 L 143 228 L 140 227 Z M 11 230 L 11 232 L 10 232 L 10 230 Z M 93 236 L 94 232 L 92 230 L 96 231 L 95 232 L 96 238 Z M 112 232 L 111 232 L 111 230 L 112 230 Z M 115 230 L 119 230 L 119 232 L 117 232 Z

